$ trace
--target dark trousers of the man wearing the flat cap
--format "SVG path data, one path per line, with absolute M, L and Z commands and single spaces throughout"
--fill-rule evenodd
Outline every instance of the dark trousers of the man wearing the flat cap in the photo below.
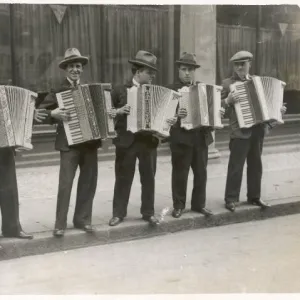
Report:
M 262 179 L 262 149 L 264 129 L 254 127 L 249 139 L 231 139 L 230 157 L 225 189 L 226 202 L 238 202 L 240 197 L 244 164 L 247 159 L 247 198 L 260 199 Z

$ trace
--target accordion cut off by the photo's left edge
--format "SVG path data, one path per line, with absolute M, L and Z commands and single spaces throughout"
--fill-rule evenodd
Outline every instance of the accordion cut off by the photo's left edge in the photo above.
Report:
M 15 86 L 0 86 L 0 147 L 30 150 L 37 94 Z

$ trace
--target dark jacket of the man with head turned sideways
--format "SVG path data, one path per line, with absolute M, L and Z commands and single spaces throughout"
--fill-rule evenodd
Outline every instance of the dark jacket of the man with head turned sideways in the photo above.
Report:
M 127 89 L 132 86 L 132 82 L 128 81 L 126 84 L 113 87 L 111 98 L 115 108 L 121 108 L 127 104 Z M 151 132 L 132 133 L 131 131 L 128 131 L 127 115 L 117 115 L 115 118 L 115 130 L 117 132 L 117 137 L 113 140 L 113 143 L 117 147 L 128 148 L 134 141 L 142 141 L 153 148 L 158 145 L 158 139 L 154 137 Z

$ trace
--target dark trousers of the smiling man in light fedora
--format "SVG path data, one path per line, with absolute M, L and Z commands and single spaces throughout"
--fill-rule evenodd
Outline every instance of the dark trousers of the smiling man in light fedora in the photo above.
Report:
M 80 174 L 73 224 L 90 225 L 93 200 L 97 187 L 98 159 L 97 149 L 71 149 L 60 152 L 59 186 L 56 207 L 56 229 L 65 229 L 70 204 L 73 180 L 77 168 Z

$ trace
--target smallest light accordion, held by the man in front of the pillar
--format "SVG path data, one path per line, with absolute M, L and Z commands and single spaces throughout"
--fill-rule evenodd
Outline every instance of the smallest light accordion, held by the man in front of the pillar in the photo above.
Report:
M 221 86 L 198 83 L 179 90 L 179 107 L 187 110 L 181 127 L 187 130 L 199 127 L 223 128 L 221 119 Z

